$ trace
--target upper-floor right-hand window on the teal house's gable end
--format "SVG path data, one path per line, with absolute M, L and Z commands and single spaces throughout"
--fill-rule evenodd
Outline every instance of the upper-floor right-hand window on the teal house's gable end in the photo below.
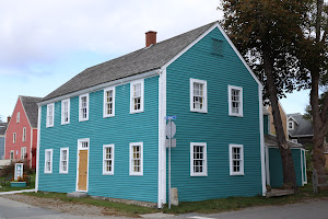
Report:
M 229 85 L 229 115 L 243 116 L 243 88 Z

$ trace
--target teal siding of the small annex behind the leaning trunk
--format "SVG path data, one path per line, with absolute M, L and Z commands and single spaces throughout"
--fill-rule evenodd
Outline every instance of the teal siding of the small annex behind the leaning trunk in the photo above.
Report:
M 292 157 L 296 173 L 296 184 L 302 186 L 301 149 L 292 149 Z M 283 173 L 281 157 L 278 148 L 269 148 L 270 184 L 272 187 L 282 187 Z

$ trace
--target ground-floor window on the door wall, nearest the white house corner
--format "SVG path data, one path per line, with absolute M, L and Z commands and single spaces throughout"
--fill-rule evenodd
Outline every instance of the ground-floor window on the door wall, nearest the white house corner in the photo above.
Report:
M 143 175 L 143 142 L 130 143 L 130 175 Z

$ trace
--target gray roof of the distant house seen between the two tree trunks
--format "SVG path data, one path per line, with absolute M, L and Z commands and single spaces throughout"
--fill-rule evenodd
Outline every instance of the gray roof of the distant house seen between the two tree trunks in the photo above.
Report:
M 293 117 L 297 122 L 297 125 L 294 126 L 294 130 L 289 130 L 290 136 L 313 136 L 312 123 L 311 120 L 304 119 L 302 114 L 288 114 L 288 117 Z

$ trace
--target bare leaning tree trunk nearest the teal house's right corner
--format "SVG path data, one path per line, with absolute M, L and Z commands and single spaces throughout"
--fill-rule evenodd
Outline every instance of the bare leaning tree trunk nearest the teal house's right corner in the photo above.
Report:
M 274 78 L 272 73 L 273 65 L 270 55 L 266 53 L 265 49 L 263 49 L 263 67 L 267 74 L 267 87 L 268 87 L 268 92 L 270 94 L 273 124 L 276 128 L 278 147 L 279 147 L 281 162 L 282 162 L 283 185 L 284 187 L 291 186 L 295 192 L 297 192 L 296 174 L 295 174 L 294 162 L 292 158 L 292 151 L 285 140 L 285 135 L 282 126 L 280 111 L 279 111 L 279 103 L 277 97 L 278 91 L 274 84 Z

